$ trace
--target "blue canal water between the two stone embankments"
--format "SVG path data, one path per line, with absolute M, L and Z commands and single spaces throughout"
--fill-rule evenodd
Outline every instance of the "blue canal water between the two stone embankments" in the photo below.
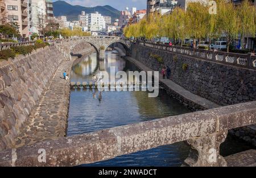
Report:
M 115 67 L 115 72 L 139 71 L 133 64 L 113 52 L 106 52 L 104 61 L 97 61 L 96 53 L 93 53 L 73 65 L 71 81 L 92 81 L 93 75 L 99 71 L 110 72 L 111 67 Z M 168 96 L 164 90 L 159 91 L 158 97 L 148 98 L 148 92 L 73 89 L 67 135 L 90 133 L 189 112 L 191 110 Z M 228 148 L 229 144 L 225 147 Z M 180 142 L 83 166 L 180 166 L 187 158 L 188 152 L 189 146 Z M 228 152 L 225 154 L 228 155 Z

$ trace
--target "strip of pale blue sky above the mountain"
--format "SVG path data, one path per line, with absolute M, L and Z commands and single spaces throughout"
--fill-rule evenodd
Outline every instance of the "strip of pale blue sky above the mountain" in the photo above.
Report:
M 53 0 L 57 1 L 57 0 Z M 124 10 L 125 7 L 137 7 L 139 9 L 146 9 L 146 0 L 64 0 L 71 5 L 80 5 L 85 7 L 94 7 L 94 6 L 105 6 L 109 5 L 118 10 Z

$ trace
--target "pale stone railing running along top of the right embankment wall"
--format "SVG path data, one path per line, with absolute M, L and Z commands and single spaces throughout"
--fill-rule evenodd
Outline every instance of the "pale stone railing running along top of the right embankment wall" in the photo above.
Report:
M 214 61 L 216 63 L 235 65 L 237 67 L 256 69 L 256 56 L 239 53 L 228 53 L 220 51 L 212 51 L 205 49 L 193 49 L 189 47 L 180 47 L 180 46 L 169 46 L 166 44 L 154 44 L 147 42 L 138 42 L 140 45 L 146 47 L 160 49 L 163 51 L 175 52 L 181 55 L 194 56 L 199 59 Z

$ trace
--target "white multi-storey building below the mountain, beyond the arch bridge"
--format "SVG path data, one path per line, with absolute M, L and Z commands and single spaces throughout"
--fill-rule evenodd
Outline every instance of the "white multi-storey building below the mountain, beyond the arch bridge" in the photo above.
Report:
M 90 31 L 105 31 L 106 22 L 104 16 L 98 12 L 88 14 L 88 27 Z

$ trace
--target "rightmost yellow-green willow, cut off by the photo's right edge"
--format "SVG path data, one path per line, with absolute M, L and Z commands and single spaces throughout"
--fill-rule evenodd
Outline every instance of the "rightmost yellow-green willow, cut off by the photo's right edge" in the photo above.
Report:
M 255 6 L 248 0 L 244 0 L 238 7 L 238 15 L 240 18 L 240 34 L 243 44 L 243 36 L 254 36 L 256 31 L 255 24 Z

